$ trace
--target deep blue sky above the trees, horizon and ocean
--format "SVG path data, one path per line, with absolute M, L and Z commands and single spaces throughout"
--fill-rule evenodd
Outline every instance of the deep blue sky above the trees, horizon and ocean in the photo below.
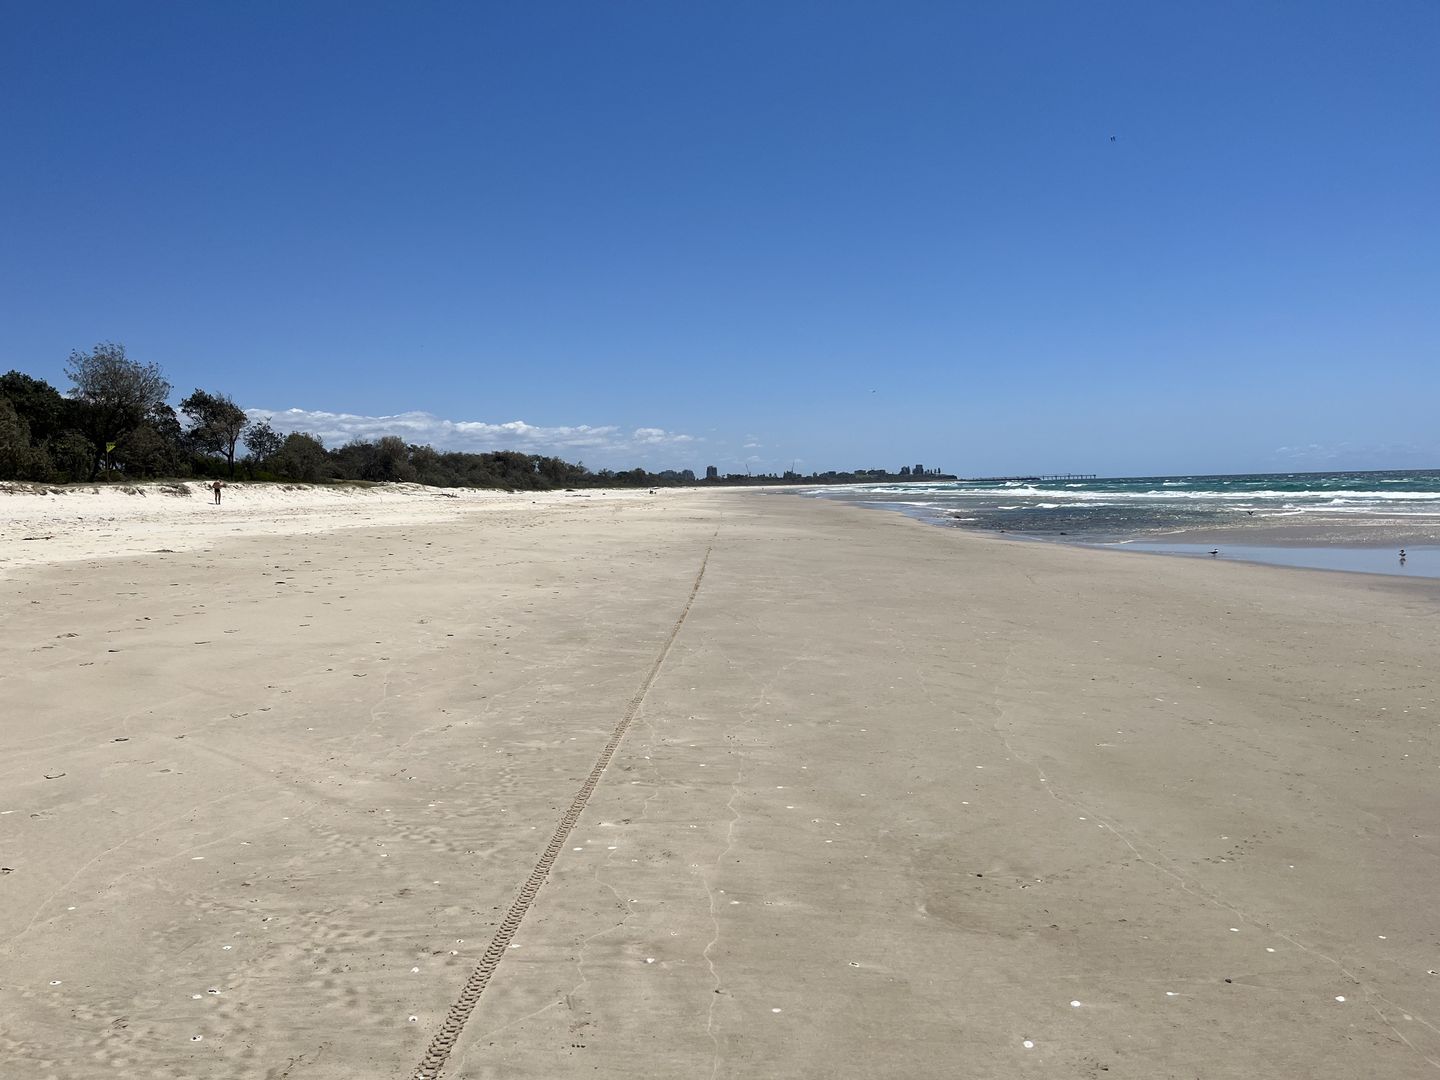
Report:
M 1440 467 L 1428 0 L 0 13 L 0 369 L 596 468 Z

